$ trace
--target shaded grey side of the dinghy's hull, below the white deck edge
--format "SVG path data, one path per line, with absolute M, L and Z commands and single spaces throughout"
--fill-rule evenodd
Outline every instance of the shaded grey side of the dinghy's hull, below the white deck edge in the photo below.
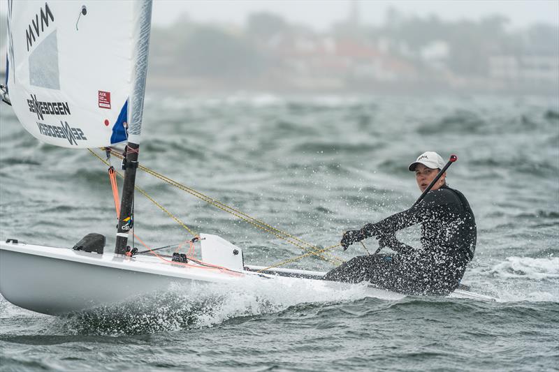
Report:
M 115 304 L 164 290 L 172 280 L 141 271 L 0 249 L 1 294 L 12 304 L 38 313 L 61 315 Z

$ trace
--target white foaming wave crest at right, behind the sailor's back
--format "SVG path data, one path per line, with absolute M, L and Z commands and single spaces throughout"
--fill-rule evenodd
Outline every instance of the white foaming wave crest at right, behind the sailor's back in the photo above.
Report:
M 507 257 L 495 265 L 491 274 L 504 278 L 528 278 L 543 280 L 559 278 L 559 258 Z

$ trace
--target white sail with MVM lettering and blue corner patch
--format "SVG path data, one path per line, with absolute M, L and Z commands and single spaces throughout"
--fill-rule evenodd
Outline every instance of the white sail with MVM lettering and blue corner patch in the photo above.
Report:
M 139 142 L 151 0 L 8 0 L 7 87 L 24 128 L 60 147 Z M 133 106 L 133 108 L 132 108 Z

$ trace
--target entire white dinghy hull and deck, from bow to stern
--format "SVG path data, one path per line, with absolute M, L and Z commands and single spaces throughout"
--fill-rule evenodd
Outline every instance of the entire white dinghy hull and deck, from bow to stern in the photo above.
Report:
M 317 289 L 340 290 L 351 286 L 346 283 L 319 281 L 317 278 L 324 273 L 316 271 L 277 269 L 277 274 L 303 276 L 285 277 L 256 273 L 259 267 L 252 267 L 252 271 L 247 271 L 238 262 L 235 264 L 234 260 L 229 262 L 231 265 L 226 265 L 226 255 L 231 251 L 229 248 L 234 246 L 214 235 L 205 235 L 205 240 L 202 246 L 203 257 L 204 249 L 207 255 L 222 249 L 225 257 L 222 262 L 208 263 L 231 267 L 231 270 L 208 268 L 193 262 L 182 265 L 153 255 L 127 258 L 108 252 L 99 255 L 68 248 L 1 242 L 0 292 L 16 306 L 38 313 L 62 315 L 164 291 L 175 282 L 231 283 L 240 286 L 249 278 L 262 281 L 273 278 L 277 285 L 293 285 L 294 281 L 305 281 L 312 282 L 315 287 L 318 286 Z M 235 260 L 238 257 L 240 255 Z M 382 299 L 405 297 L 372 286 L 368 288 L 367 295 Z M 460 290 L 453 292 L 451 297 L 491 299 Z

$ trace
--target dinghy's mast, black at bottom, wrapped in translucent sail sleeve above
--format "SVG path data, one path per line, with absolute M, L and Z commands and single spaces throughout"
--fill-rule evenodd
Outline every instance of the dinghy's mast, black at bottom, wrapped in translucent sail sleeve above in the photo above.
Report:
M 120 202 L 120 216 L 117 227 L 117 244 L 115 253 L 124 255 L 128 243 L 129 232 L 133 227 L 132 205 L 134 201 L 134 186 L 136 184 L 136 168 L 138 168 L 138 154 L 140 151 L 140 134 L 142 129 L 142 115 L 144 108 L 145 80 L 147 77 L 147 54 L 150 50 L 150 29 L 152 24 L 152 0 L 142 0 L 136 3 L 136 29 L 138 34 L 133 61 L 133 88 L 129 102 L 128 144 L 124 158 L 124 185 L 122 186 L 122 200 Z

